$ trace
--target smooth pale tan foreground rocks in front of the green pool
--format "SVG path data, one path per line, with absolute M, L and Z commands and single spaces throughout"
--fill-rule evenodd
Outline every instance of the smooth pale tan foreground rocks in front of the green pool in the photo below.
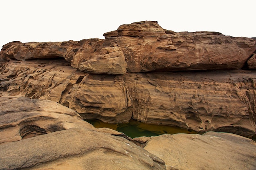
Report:
M 8 139 L 0 144 L 1 170 L 256 167 L 256 142 L 238 135 L 207 132 L 130 139 L 115 130 L 95 129 L 56 102 L 26 97 L 0 99 L 0 137 Z

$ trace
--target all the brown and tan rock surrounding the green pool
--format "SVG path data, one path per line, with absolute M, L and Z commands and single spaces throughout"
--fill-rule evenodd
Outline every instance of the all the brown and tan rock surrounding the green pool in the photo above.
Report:
M 3 46 L 1 170 L 256 167 L 255 141 L 238 136 L 256 129 L 253 39 L 154 21 L 104 36 Z M 217 132 L 131 139 L 88 118 Z

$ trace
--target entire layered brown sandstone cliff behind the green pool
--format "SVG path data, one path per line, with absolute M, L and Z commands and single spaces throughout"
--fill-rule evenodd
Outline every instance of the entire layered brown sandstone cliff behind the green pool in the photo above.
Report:
M 104 36 L 4 45 L 2 97 L 49 99 L 83 119 L 118 123 L 132 117 L 255 135 L 253 39 L 175 33 L 153 21 L 121 25 Z

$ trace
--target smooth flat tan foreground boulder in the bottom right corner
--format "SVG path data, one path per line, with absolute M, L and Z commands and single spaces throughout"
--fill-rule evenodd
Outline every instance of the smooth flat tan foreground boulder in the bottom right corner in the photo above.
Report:
M 166 170 L 254 170 L 256 142 L 230 133 L 160 135 L 144 149 L 163 159 Z

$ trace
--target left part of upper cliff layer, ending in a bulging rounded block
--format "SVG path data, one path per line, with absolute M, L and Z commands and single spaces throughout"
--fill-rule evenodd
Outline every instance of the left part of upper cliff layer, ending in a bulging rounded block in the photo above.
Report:
M 103 40 L 67 42 L 10 42 L 0 53 L 0 62 L 10 59 L 54 59 L 63 57 L 80 71 L 94 74 L 124 74 L 127 63 L 118 46 L 102 47 Z

